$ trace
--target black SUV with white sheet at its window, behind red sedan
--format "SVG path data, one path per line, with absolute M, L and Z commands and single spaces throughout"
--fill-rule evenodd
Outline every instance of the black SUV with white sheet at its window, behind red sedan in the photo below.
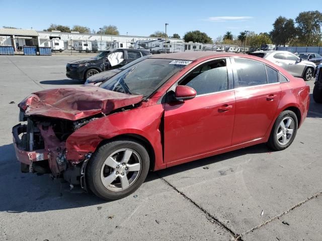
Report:
M 81 79 L 85 81 L 94 74 L 119 68 L 149 54 L 149 51 L 137 49 L 107 50 L 92 58 L 79 59 L 67 63 L 66 76 L 70 79 Z M 109 56 L 112 56 L 113 59 L 109 60 Z M 110 61 L 113 61 L 113 63 Z

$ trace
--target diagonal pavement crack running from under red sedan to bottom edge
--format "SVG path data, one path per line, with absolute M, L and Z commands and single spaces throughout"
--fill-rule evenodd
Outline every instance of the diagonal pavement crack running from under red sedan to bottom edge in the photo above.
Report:
M 191 198 L 189 198 L 188 196 L 186 196 L 186 194 L 184 194 L 183 192 L 179 191 L 174 185 L 172 185 L 170 182 L 168 182 L 166 179 L 164 179 L 163 177 L 161 177 L 160 175 L 158 175 L 156 173 L 156 175 L 162 180 L 164 181 L 167 185 L 169 185 L 170 187 L 172 187 L 176 192 L 178 192 L 180 195 L 182 195 L 185 199 L 187 199 L 188 201 L 190 201 L 193 205 L 195 205 L 200 211 L 202 211 L 203 213 L 206 214 L 207 219 L 209 220 L 209 218 L 211 218 L 214 222 L 216 222 L 217 225 L 221 226 L 222 228 L 224 228 L 226 231 L 228 231 L 230 233 L 230 235 L 232 235 L 235 239 L 234 241 L 243 241 L 243 239 L 241 238 L 241 234 L 237 234 L 234 233 L 234 231 L 232 231 L 229 227 L 226 226 L 226 224 L 222 223 L 218 218 L 216 218 L 215 216 L 213 216 L 211 213 L 209 213 L 207 210 L 205 210 L 203 207 L 201 207 L 200 205 L 198 205 L 196 202 L 194 202 Z M 209 217 L 209 218 L 208 218 Z

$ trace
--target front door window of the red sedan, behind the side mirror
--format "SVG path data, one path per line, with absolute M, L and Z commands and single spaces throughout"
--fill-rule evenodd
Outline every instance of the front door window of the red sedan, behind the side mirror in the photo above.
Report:
M 214 93 L 228 89 L 226 60 L 216 60 L 193 70 L 180 85 L 187 85 L 197 91 L 197 95 Z

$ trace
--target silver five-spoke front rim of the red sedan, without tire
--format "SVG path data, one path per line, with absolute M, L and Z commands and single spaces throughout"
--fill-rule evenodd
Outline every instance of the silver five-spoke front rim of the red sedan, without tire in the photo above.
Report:
M 120 149 L 113 152 L 101 169 L 101 181 L 111 191 L 123 191 L 129 188 L 140 175 L 142 161 L 132 149 Z

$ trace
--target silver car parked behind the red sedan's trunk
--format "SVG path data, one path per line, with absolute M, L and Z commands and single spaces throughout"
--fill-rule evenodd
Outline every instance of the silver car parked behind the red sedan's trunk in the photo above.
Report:
M 305 81 L 313 77 L 316 67 L 314 63 L 303 60 L 288 51 L 256 51 L 250 55 L 267 59 L 284 68 L 294 77 L 301 77 Z

